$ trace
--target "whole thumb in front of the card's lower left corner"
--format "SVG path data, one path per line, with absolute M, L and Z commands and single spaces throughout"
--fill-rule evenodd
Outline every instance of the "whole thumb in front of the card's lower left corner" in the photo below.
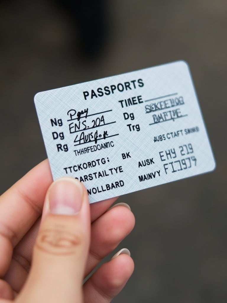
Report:
M 85 187 L 60 178 L 47 191 L 44 217 L 21 302 L 82 303 L 90 244 L 90 207 Z

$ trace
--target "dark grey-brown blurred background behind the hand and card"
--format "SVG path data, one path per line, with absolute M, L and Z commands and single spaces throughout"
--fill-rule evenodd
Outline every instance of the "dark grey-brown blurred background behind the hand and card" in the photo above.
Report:
M 113 302 L 227 302 L 226 0 L 0 1 L 0 193 L 46 158 L 36 92 L 184 59 L 214 172 L 122 196 L 135 271 Z

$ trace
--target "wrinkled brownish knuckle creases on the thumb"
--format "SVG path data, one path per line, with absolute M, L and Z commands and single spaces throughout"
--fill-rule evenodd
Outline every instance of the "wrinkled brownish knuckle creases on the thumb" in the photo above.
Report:
M 36 247 L 53 255 L 70 255 L 75 253 L 81 242 L 81 235 L 58 226 L 41 231 L 36 241 Z

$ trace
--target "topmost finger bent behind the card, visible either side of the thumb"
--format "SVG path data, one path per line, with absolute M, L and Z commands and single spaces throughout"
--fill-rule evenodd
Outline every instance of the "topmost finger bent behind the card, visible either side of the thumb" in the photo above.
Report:
M 44 198 L 52 181 L 46 159 L 0 196 L 0 235 L 8 238 L 13 247 L 41 215 Z M 91 205 L 91 221 L 102 215 L 116 199 Z

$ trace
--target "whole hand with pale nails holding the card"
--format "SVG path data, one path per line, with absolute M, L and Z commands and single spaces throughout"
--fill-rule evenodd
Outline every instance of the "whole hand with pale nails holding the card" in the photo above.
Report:
M 51 183 L 45 160 L 0 196 L 0 303 L 110 302 L 133 272 L 127 250 L 83 279 L 130 233 L 134 216 L 122 203 L 108 210 L 116 198 L 89 205 L 74 178 Z

